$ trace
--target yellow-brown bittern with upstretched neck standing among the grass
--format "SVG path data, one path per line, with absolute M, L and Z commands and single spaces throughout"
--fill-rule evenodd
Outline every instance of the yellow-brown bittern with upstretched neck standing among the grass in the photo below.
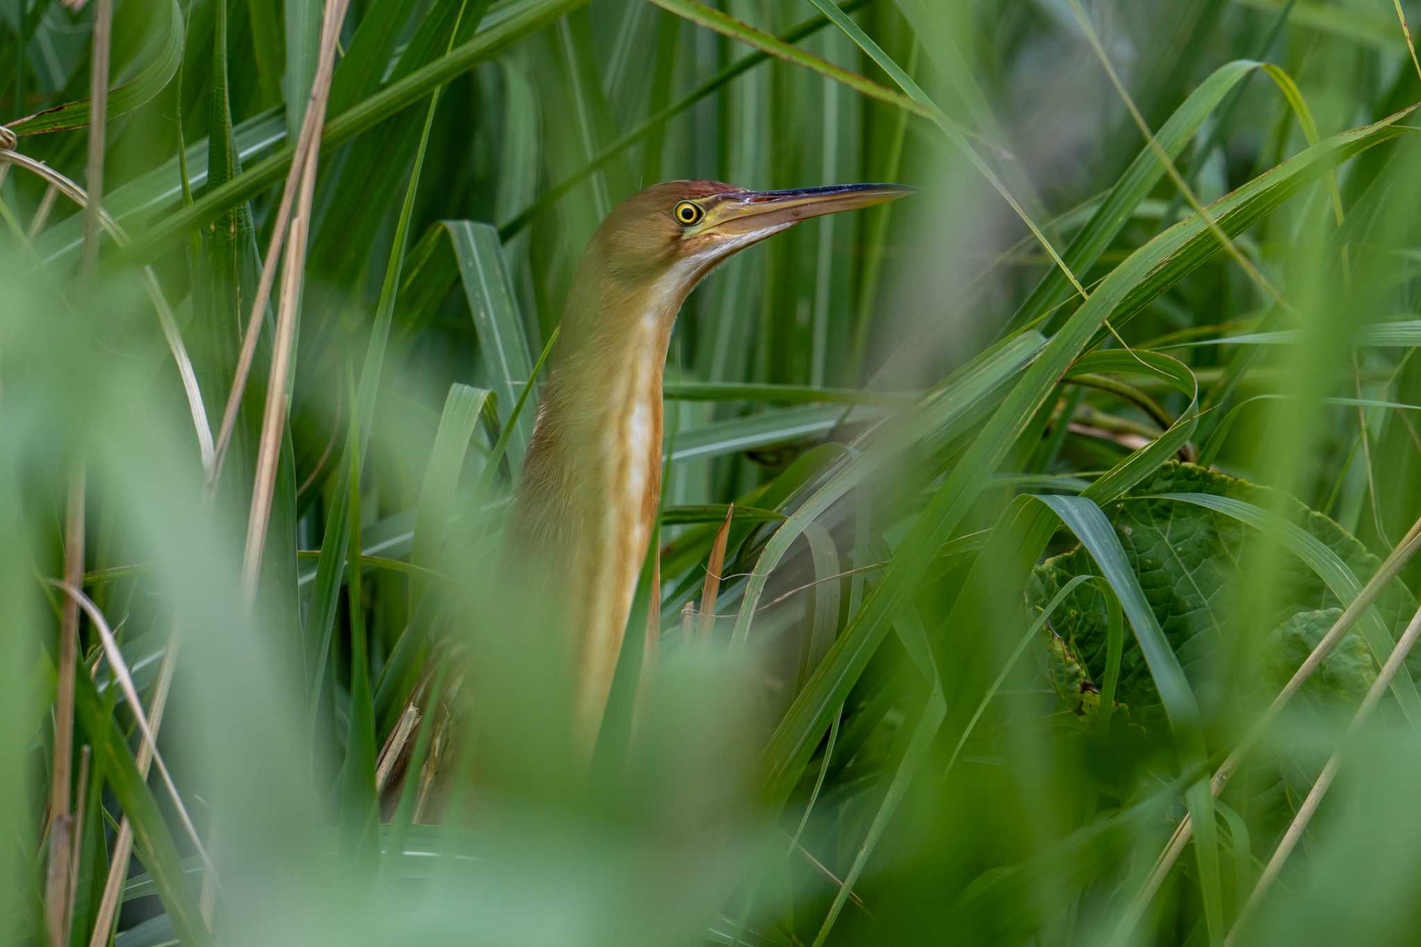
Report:
M 563 314 L 510 524 L 539 593 L 560 601 L 573 735 L 584 752 L 603 720 L 657 517 L 661 378 L 682 301 L 718 263 L 800 220 L 912 190 L 756 192 L 674 180 L 615 207 L 593 236 Z

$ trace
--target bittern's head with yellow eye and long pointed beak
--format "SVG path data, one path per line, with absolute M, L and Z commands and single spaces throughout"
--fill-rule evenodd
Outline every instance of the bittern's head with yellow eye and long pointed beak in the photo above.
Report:
M 726 257 L 801 220 L 909 195 L 902 185 L 746 190 L 718 180 L 669 180 L 627 199 L 593 237 L 603 270 L 622 285 L 688 292 Z

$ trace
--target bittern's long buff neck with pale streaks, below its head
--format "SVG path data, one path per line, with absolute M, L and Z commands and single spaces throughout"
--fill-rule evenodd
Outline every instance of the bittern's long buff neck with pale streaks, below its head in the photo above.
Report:
M 585 744 L 597 733 L 661 494 L 661 381 L 689 290 L 574 281 L 514 510 L 563 603 Z M 570 628 L 571 630 L 571 628 Z

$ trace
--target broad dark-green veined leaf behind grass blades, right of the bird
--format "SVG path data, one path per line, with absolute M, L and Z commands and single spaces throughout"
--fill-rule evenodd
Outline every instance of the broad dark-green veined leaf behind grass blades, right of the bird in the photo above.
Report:
M 1272 508 L 1282 501 L 1280 513 L 1334 552 L 1360 581 L 1377 571 L 1378 559 L 1354 537 L 1320 513 L 1290 498 L 1270 496 L 1266 487 L 1205 470 L 1194 464 L 1169 463 L 1155 471 L 1130 494 L 1110 504 L 1110 522 L 1120 538 L 1131 571 L 1140 576 L 1150 608 L 1160 620 L 1169 647 L 1195 686 L 1228 680 L 1236 647 L 1229 635 L 1235 630 L 1231 615 L 1238 609 L 1233 596 L 1248 593 L 1239 575 L 1256 568 L 1260 538 L 1243 522 L 1169 496 L 1196 493 L 1229 497 L 1258 507 Z M 1076 575 L 1093 574 L 1096 564 L 1081 549 L 1054 555 L 1032 572 L 1027 603 L 1042 608 Z M 1107 609 L 1106 596 L 1096 586 L 1079 586 L 1050 620 L 1043 639 L 1049 657 L 1052 686 L 1070 706 L 1080 704 L 1086 681 L 1100 681 L 1106 667 Z M 1268 677 L 1262 693 L 1272 694 L 1307 657 L 1330 622 L 1326 616 L 1341 612 L 1337 595 L 1320 575 L 1297 558 L 1276 585 L 1276 608 L 1263 652 Z M 1378 608 L 1388 626 L 1400 635 L 1415 612 L 1415 599 L 1400 582 L 1391 582 Z M 1322 616 L 1322 618 L 1320 618 Z M 1418 656 L 1421 657 L 1421 656 Z M 1412 659 L 1414 666 L 1417 659 Z M 1377 664 L 1367 656 L 1360 635 L 1349 635 L 1323 662 L 1317 676 L 1306 686 L 1316 693 L 1360 700 L 1376 680 Z M 1216 699 L 1216 697 L 1215 697 Z M 1125 647 L 1118 700 L 1150 711 L 1158 707 L 1158 694 L 1141 650 Z

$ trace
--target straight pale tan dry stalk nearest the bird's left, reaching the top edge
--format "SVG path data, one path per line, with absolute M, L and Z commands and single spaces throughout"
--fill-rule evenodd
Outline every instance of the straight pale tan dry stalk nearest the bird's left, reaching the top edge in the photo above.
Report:
M 334 72 L 335 62 L 335 40 L 340 35 L 340 24 L 345 18 L 348 3 L 350 0 L 325 0 L 325 20 L 321 24 L 321 57 L 317 62 L 311 98 L 307 105 L 307 118 L 317 128 L 325 122 L 325 104 L 330 99 L 331 74 Z M 301 277 L 306 264 L 306 239 L 311 221 L 311 200 L 315 193 L 315 168 L 320 153 L 320 139 L 313 138 L 307 148 L 306 160 L 293 162 L 293 168 L 301 165 L 301 193 L 296 216 L 291 219 L 290 244 L 286 251 L 281 302 L 277 308 L 276 351 L 271 359 L 271 373 L 267 379 L 266 412 L 261 419 L 256 478 L 252 486 L 252 510 L 247 520 L 247 542 L 242 576 L 243 589 L 249 598 L 256 595 L 261 551 L 266 548 L 266 528 L 271 515 L 271 497 L 276 488 L 276 467 L 281 446 L 281 433 L 286 429 L 287 376 L 291 371 L 293 346 L 296 342 L 296 319 L 301 302 Z M 254 329 L 249 329 L 244 344 L 252 342 L 254 345 L 253 335 Z M 242 392 L 236 386 L 233 386 L 233 395 L 240 400 Z M 229 396 L 229 412 L 232 410 L 232 402 L 233 396 Z M 219 451 L 220 449 L 222 442 L 219 434 Z M 220 454 L 213 463 L 215 474 L 219 466 Z M 215 484 L 216 477 L 212 477 L 210 481 Z

